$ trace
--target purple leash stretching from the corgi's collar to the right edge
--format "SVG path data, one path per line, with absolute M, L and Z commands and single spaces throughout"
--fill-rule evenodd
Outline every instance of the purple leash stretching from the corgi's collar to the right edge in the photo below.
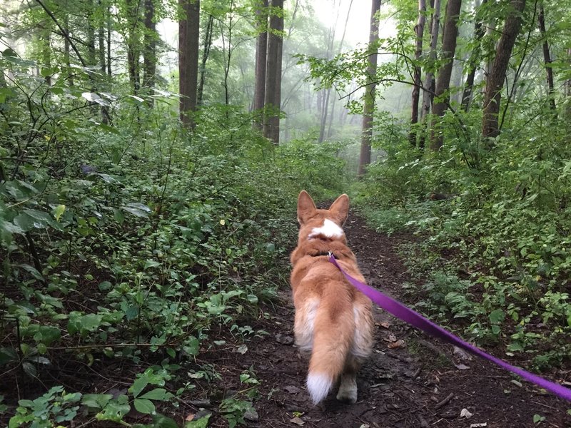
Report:
M 478 355 L 485 360 L 490 360 L 491 362 L 495 362 L 495 364 L 499 365 L 505 370 L 513 372 L 515 374 L 519 374 L 524 379 L 528 380 L 529 382 L 535 383 L 540 387 L 547 389 L 547 391 L 552 392 L 553 394 L 557 395 L 562 399 L 567 399 L 571 402 L 571 389 L 565 388 L 560 384 L 556 384 L 555 382 L 550 382 L 547 379 L 544 379 L 536 374 L 532 374 L 530 372 L 526 372 L 518 367 L 512 366 L 507 364 L 507 362 L 500 360 L 499 358 L 492 357 L 485 353 L 484 351 L 480 350 L 479 348 L 475 347 L 474 345 L 470 345 L 470 343 L 465 342 L 464 340 L 460 339 L 453 335 L 452 333 L 443 329 L 436 325 L 434 322 L 428 320 L 427 318 L 420 315 L 418 312 L 406 307 L 400 302 L 397 302 L 392 297 L 388 297 L 388 295 L 383 294 L 382 292 L 375 290 L 372 287 L 369 287 L 363 282 L 355 280 L 354 277 L 348 275 L 337 263 L 335 260 L 335 256 L 333 254 L 329 254 L 329 261 L 333 263 L 340 271 L 345 275 L 347 280 L 354 285 L 360 292 L 362 292 L 365 296 L 369 297 L 370 300 L 373 300 L 377 305 L 382 307 L 384 310 L 389 312 L 390 314 L 394 315 L 395 317 L 403 320 L 404 322 L 408 322 L 408 324 L 417 327 L 423 332 L 427 332 L 429 335 L 434 337 L 438 337 L 439 339 L 445 340 L 446 342 L 450 342 L 453 345 L 463 348 L 468 352 L 471 352 L 475 355 Z

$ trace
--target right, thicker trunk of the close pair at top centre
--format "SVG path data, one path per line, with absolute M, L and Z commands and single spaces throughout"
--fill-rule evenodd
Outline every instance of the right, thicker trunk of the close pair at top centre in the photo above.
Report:
M 272 0 L 268 54 L 266 57 L 266 89 L 264 93 L 263 136 L 274 144 L 280 140 L 281 46 L 283 31 L 283 0 Z

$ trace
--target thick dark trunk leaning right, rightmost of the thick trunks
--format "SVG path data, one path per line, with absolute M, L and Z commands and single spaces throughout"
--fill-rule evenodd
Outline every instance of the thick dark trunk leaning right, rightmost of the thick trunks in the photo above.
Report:
M 495 138 L 500 134 L 497 116 L 500 113 L 502 88 L 515 39 L 517 39 L 522 26 L 522 12 L 525 9 L 525 0 L 512 0 L 510 6 L 510 13 L 505 19 L 502 36 L 497 43 L 490 75 L 487 76 L 484 116 L 482 118 L 482 136 L 484 138 Z M 488 146 L 492 147 L 493 145 L 490 144 Z

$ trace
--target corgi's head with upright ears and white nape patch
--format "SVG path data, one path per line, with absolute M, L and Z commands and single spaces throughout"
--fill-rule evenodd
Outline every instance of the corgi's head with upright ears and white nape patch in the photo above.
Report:
M 301 190 L 298 196 L 299 239 L 345 240 L 342 228 L 348 213 L 348 195 L 340 195 L 328 210 L 318 210 L 309 193 Z

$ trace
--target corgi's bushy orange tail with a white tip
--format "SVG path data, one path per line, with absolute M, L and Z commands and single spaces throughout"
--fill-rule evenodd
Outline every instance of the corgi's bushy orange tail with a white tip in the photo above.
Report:
M 313 352 L 309 362 L 307 388 L 313 404 L 321 402 L 343 372 L 355 332 L 355 317 L 346 308 L 322 304 L 315 314 Z M 333 317 L 332 311 L 335 311 Z

